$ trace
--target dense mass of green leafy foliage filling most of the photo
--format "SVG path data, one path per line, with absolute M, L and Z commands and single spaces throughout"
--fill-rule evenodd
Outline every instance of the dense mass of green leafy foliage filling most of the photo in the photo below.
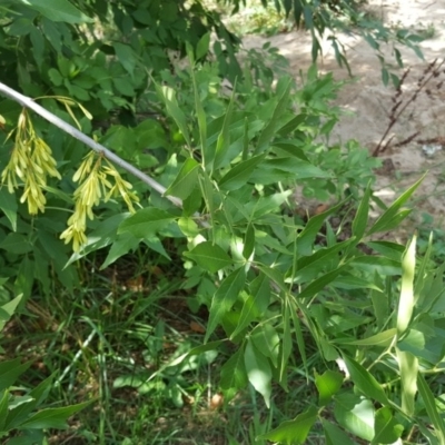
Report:
M 337 17 L 337 4 L 340 12 L 357 13 L 346 1 L 283 4 L 318 31 L 333 23 L 326 20 Z M 67 373 L 90 339 L 99 338 L 86 368 L 100 369 L 101 421 L 96 429 L 79 428 L 86 441 L 140 443 L 137 427 L 125 437 L 108 423 L 115 409 L 108 370 L 113 389 L 134 388 L 181 406 L 191 392 L 188 373 L 216 364 L 225 409 L 246 388 L 270 408 L 266 423 L 260 415 L 253 419 L 249 443 L 315 437 L 392 444 L 403 437 L 445 444 L 441 394 L 427 385 L 442 372 L 443 266 L 432 260 L 431 241 L 417 258 L 415 237 L 406 247 L 375 238 L 409 215 L 405 205 L 419 182 L 390 206 L 374 197 L 378 160 L 356 141 L 330 142 L 340 116 L 329 103 L 340 88 L 330 75 L 319 76 L 313 66 L 297 86 L 278 72 L 285 61 L 267 44 L 239 65 L 237 39 L 200 2 L 186 8 L 177 1 L 29 0 L 7 7 L 0 10 L 0 81 L 75 121 L 167 189 L 160 196 L 120 176 L 102 157 L 85 157 L 87 150 L 69 135 L 11 100 L 0 102 L 7 128 L 0 169 L 8 172 L 0 188 L 0 315 L 11 314 L 4 305 L 19 294 L 21 309 L 39 301 L 50 310 L 63 287 L 60 314 L 67 306 L 76 312 L 68 312 L 60 330 L 76 317 L 91 328 L 88 342 L 86 330 L 78 336 L 80 353 L 70 355 Z M 210 30 L 219 38 L 212 51 Z M 168 50 L 187 56 L 184 69 Z M 31 198 L 40 206 L 30 205 Z M 306 211 L 310 199 L 327 205 Z M 71 227 L 81 219 L 79 208 L 88 229 L 72 253 L 60 235 L 67 219 Z M 380 216 L 372 220 L 370 209 Z M 113 288 L 102 300 L 95 287 L 86 290 L 92 270 L 110 270 L 135 251 L 144 267 L 166 275 L 148 298 L 135 300 Z M 154 305 L 171 291 L 186 295 L 189 313 L 204 310 L 208 318 L 201 320 L 199 346 L 182 339 L 168 355 L 166 323 Z M 105 316 L 109 301 L 112 322 Z M 127 324 L 117 329 L 119 316 Z M 69 326 L 79 333 L 76 323 Z M 139 342 L 137 354 L 119 349 L 126 335 Z M 55 353 L 59 363 L 61 355 Z M 57 368 L 55 363 L 51 357 L 46 365 Z M 82 407 L 60 408 L 57 422 L 40 422 L 48 411 L 34 409 L 53 377 L 18 396 L 9 388 L 27 365 L 13 358 L 1 366 L 14 370 L 1 380 L 0 412 L 10 417 L 20 409 L 22 428 L 62 426 Z M 298 411 L 276 414 L 278 395 L 288 394 L 285 405 L 297 403 L 295 375 L 304 376 L 306 397 Z M 59 385 L 71 387 L 68 380 L 63 373 Z M 194 385 L 195 394 L 202 390 Z M 141 400 L 139 411 L 150 409 Z M 9 417 L 0 416 L 4 434 L 19 426 L 3 422 Z M 155 433 L 140 437 L 155 443 Z M 247 441 L 230 436 L 234 444 Z

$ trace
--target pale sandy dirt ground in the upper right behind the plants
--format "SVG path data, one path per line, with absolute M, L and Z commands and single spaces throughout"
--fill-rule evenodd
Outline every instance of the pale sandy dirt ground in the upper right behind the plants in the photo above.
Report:
M 415 91 L 417 81 L 428 63 L 435 59 L 441 62 L 445 57 L 445 0 L 369 0 L 366 8 L 374 16 L 382 18 L 386 26 L 429 31 L 429 38 L 419 44 L 424 60 L 411 49 L 397 46 L 403 55 L 405 68 L 411 68 L 402 95 L 408 98 Z M 357 79 L 339 92 L 337 105 L 353 111 L 354 115 L 340 120 L 334 131 L 333 140 L 357 139 L 373 151 L 387 128 L 395 89 L 383 85 L 382 66 L 375 51 L 363 38 L 342 34 L 338 37 L 347 48 L 347 58 Z M 267 39 L 246 36 L 244 46 L 247 49 L 260 48 L 265 40 L 279 48 L 280 53 L 289 60 L 295 76 L 299 76 L 300 70 L 305 71 L 310 66 L 310 38 L 307 33 L 293 31 Z M 323 42 L 323 48 L 324 57 L 318 63 L 320 71 L 333 71 L 338 80 L 347 79 L 347 71 L 338 67 L 327 40 Z M 392 71 L 402 77 L 404 70 L 397 69 L 395 58 L 392 56 L 393 43 L 382 47 L 382 51 L 386 61 L 390 62 Z M 392 200 L 397 191 L 406 189 L 428 170 L 414 202 L 417 209 L 434 216 L 436 227 L 445 225 L 443 220 L 445 216 L 444 69 L 445 65 L 441 76 L 428 85 L 431 93 L 427 95 L 425 91 L 419 93 L 387 135 L 385 140 L 392 138 L 392 142 L 380 155 L 386 161 L 378 174 L 376 187 L 383 198 Z M 437 83 L 442 80 L 444 86 L 437 88 Z M 394 147 L 416 131 L 418 135 L 409 144 Z M 426 155 L 424 149 L 436 151 Z

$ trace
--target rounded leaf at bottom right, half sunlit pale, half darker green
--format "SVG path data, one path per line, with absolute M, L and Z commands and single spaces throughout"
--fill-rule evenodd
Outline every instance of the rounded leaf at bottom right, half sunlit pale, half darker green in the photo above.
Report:
M 347 432 L 365 441 L 374 437 L 374 405 L 355 394 L 335 396 L 334 416 Z M 337 444 L 336 444 L 337 445 Z

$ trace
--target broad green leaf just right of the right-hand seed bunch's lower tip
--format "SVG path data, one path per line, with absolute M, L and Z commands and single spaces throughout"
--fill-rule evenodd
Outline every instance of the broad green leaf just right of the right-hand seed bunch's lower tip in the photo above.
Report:
M 149 238 L 174 220 L 175 217 L 166 210 L 147 207 L 125 219 L 119 225 L 118 234 L 129 231 L 137 238 Z

